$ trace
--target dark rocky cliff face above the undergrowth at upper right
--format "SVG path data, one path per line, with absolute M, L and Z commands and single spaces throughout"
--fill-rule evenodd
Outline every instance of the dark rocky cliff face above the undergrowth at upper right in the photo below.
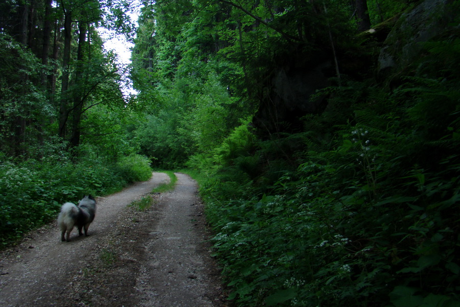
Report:
M 421 1 L 412 10 L 401 14 L 396 23 L 394 20 L 397 16 L 390 23 L 385 23 L 383 30 L 366 31 L 363 34 L 373 36 L 370 39 L 378 41 L 378 46 L 381 46 L 378 58 L 373 58 L 373 63 L 369 63 L 362 51 L 340 50 L 341 71 L 353 76 L 365 70 L 369 72 L 377 66 L 381 82 L 396 82 L 398 72 L 422 56 L 423 42 L 460 31 L 459 25 L 452 24 L 458 12 L 450 9 L 451 2 Z M 390 31 L 387 30 L 388 26 Z M 316 90 L 329 86 L 329 78 L 335 77 L 332 53 L 317 53 L 316 59 L 312 55 L 309 59 L 302 55 L 297 57 L 274 68 L 271 83 L 252 121 L 261 135 L 300 131 L 303 116 L 321 113 L 327 106 L 327 97 L 312 99 L 312 95 Z

